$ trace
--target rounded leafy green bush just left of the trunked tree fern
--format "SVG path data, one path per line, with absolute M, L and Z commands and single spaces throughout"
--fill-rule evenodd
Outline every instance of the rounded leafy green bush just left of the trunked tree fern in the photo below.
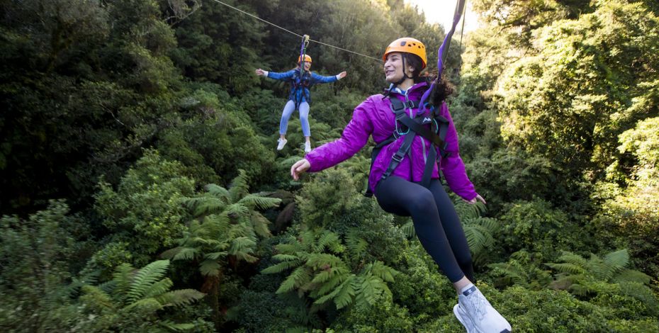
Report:
M 113 233 L 105 249 L 95 254 L 96 264 L 114 267 L 125 259 L 144 263 L 176 242 L 188 217 L 184 199 L 193 193 L 193 181 L 182 176 L 182 169 L 179 162 L 169 162 L 158 152 L 147 150 L 116 191 L 101 182 L 95 207 L 104 218 L 103 225 Z M 128 251 L 128 255 L 118 256 L 117 249 Z

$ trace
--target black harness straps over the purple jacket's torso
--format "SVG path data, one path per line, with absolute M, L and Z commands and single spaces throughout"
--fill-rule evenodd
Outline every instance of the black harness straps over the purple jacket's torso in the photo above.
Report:
M 407 113 L 405 113 L 405 109 L 417 108 L 419 106 L 418 101 L 403 102 L 398 98 L 389 98 L 389 100 L 391 101 L 391 111 L 396 115 L 396 121 L 402 123 L 402 125 L 405 125 L 405 127 L 407 127 L 409 130 L 403 134 L 405 135 L 405 140 L 403 140 L 402 145 L 400 145 L 400 148 L 398 148 L 398 151 L 395 152 L 395 154 L 393 154 L 391 157 L 391 162 L 389 162 L 387 170 L 382 175 L 381 181 L 391 176 L 396 167 L 398 167 L 398 164 L 400 164 L 402 159 L 405 158 L 405 154 L 410 153 L 410 147 L 412 147 L 412 142 L 414 141 L 415 137 L 417 135 L 421 135 L 421 137 L 431 143 L 430 152 L 428 153 L 428 157 L 426 159 L 426 165 L 423 170 L 421 181 L 422 186 L 428 187 L 430 185 L 432 169 L 434 169 L 434 165 L 437 159 L 439 159 L 436 149 L 439 148 L 440 157 L 446 157 L 446 155 L 448 155 L 446 152 L 446 142 L 444 142 L 444 139 L 446 138 L 446 132 L 449 130 L 449 120 L 439 115 L 435 108 L 431 109 L 432 111 L 430 117 L 417 115 L 414 119 L 412 119 L 409 115 L 407 115 Z M 427 124 L 431 124 L 431 129 L 424 126 Z M 378 154 L 382 148 L 390 145 L 391 142 L 398 140 L 400 136 L 401 135 L 398 131 L 394 131 L 390 137 L 378 143 L 376 147 L 373 147 L 373 151 L 371 152 L 371 169 L 373 169 L 373 162 L 375 162 L 376 157 L 378 157 Z M 370 186 L 367 186 L 364 196 L 373 196 L 373 192 L 371 191 Z

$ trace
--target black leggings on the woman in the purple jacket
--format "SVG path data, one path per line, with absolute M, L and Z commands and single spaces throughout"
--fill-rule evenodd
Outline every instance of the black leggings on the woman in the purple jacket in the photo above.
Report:
M 463 276 L 475 281 L 471 252 L 458 213 L 438 179 L 432 179 L 429 188 L 424 188 L 390 176 L 378 183 L 375 195 L 386 212 L 412 216 L 419 241 L 451 282 Z

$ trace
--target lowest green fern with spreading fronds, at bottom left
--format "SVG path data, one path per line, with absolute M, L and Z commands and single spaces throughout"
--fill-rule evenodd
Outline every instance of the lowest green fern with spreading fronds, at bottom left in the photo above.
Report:
M 113 279 L 100 286 L 84 286 L 81 303 L 88 319 L 78 324 L 82 330 L 131 332 L 181 331 L 194 324 L 177 324 L 162 320 L 159 313 L 166 307 L 184 307 L 203 297 L 193 289 L 169 290 L 173 283 L 163 278 L 169 260 L 154 261 L 135 270 L 121 264 Z

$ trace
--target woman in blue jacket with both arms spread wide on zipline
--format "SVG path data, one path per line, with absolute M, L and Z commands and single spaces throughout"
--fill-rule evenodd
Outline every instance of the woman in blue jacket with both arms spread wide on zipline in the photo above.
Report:
M 314 84 L 338 81 L 347 75 L 346 72 L 341 72 L 332 77 L 323 77 L 322 75 L 312 73 L 309 70 L 311 67 L 311 57 L 309 55 L 304 56 L 303 67 L 305 70 L 303 73 L 300 73 L 300 60 L 300 57 L 298 57 L 297 67 L 295 67 L 295 69 L 291 69 L 288 72 L 268 72 L 260 68 L 256 70 L 256 73 L 259 76 L 291 82 L 291 94 L 288 95 L 288 102 L 286 102 L 286 106 L 283 107 L 281 120 L 279 121 L 279 139 L 277 140 L 277 150 L 283 149 L 283 146 L 286 145 L 286 130 L 288 129 L 288 119 L 291 118 L 293 111 L 297 109 L 300 112 L 302 133 L 305 137 L 304 151 L 311 151 L 311 130 L 309 128 L 308 119 L 309 103 L 311 102 L 309 89 Z

